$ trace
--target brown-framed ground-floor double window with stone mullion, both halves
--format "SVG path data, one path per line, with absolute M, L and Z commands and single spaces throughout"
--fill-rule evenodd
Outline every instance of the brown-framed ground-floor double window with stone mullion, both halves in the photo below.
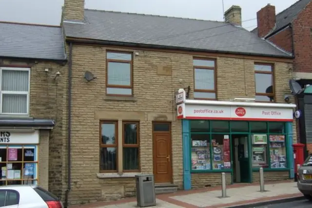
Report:
M 139 122 L 122 121 L 118 132 L 118 121 L 100 122 L 100 172 L 139 172 Z

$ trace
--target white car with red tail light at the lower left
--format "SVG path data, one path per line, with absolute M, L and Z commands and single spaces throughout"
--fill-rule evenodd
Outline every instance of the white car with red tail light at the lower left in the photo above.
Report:
M 0 207 L 63 208 L 58 197 L 36 185 L 0 186 Z

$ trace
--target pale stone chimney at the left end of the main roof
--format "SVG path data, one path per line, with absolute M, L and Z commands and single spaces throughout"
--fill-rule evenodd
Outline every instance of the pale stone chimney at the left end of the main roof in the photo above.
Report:
M 84 19 L 84 0 L 64 0 L 63 20 Z

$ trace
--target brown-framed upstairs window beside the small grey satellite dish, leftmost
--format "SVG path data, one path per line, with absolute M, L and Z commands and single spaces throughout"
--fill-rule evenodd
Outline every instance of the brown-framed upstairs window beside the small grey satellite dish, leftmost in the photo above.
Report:
M 106 94 L 133 94 L 132 82 L 132 53 L 106 53 Z

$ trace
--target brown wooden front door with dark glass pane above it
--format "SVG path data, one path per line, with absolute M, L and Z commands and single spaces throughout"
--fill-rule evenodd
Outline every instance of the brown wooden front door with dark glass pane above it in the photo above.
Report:
M 153 169 L 155 183 L 172 182 L 170 123 L 153 123 Z

